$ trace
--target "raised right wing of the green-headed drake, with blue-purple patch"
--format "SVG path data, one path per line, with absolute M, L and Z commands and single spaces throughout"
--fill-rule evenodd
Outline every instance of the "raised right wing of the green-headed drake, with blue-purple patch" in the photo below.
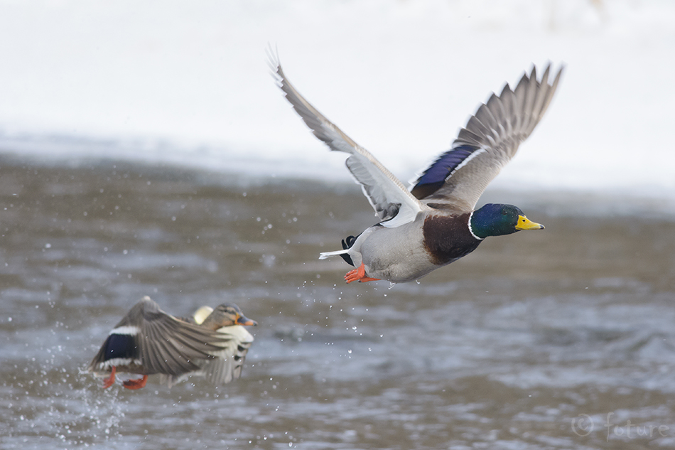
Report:
M 514 90 L 506 85 L 499 96 L 492 94 L 460 130 L 452 148 L 416 178 L 412 194 L 438 208 L 473 210 L 549 107 L 563 69 L 549 84 L 550 70 L 549 64 L 538 81 L 532 68 Z

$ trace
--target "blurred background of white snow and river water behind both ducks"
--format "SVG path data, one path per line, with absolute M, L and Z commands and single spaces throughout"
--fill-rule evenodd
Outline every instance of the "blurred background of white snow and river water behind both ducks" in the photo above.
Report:
M 2 448 L 675 444 L 675 4 L 0 0 L 0 35 Z M 268 45 L 403 181 L 492 91 L 565 65 L 481 199 L 546 230 L 345 285 L 318 253 L 372 209 Z M 144 295 L 239 304 L 242 379 L 82 374 Z

